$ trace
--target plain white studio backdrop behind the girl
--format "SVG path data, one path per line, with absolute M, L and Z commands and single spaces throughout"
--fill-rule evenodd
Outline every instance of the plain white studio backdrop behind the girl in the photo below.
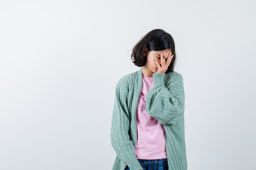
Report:
M 0 0 L 0 170 L 111 170 L 115 85 L 175 41 L 188 170 L 255 170 L 253 0 Z

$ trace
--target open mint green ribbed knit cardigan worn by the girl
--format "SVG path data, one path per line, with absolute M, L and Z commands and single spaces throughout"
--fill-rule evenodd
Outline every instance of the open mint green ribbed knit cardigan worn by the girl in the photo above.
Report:
M 166 132 L 168 170 L 186 170 L 184 87 L 177 72 L 153 74 L 154 87 L 146 95 L 146 111 Z M 142 87 L 141 69 L 122 77 L 116 86 L 111 144 L 117 153 L 112 170 L 143 169 L 134 152 L 137 143 L 136 112 Z

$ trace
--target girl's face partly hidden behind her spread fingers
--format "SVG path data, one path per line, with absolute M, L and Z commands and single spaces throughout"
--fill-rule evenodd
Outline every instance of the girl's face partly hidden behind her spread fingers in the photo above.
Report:
M 146 53 L 146 64 L 142 67 L 142 73 L 146 77 L 153 77 L 153 73 L 156 73 L 158 68 L 155 64 L 155 58 L 161 66 L 160 54 L 163 54 L 164 59 L 166 59 L 171 53 L 171 49 L 162 50 L 162 51 L 148 51 Z

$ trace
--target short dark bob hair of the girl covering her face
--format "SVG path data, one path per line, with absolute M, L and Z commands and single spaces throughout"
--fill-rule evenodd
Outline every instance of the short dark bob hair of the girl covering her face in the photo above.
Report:
M 162 29 L 154 29 L 144 35 L 144 37 L 142 37 L 132 49 L 131 58 L 132 62 L 136 66 L 141 67 L 146 64 L 146 57 L 143 55 L 146 48 L 148 51 L 162 51 L 171 49 L 173 59 L 171 60 L 171 64 L 168 66 L 166 73 L 173 72 L 176 61 L 176 53 L 173 38 L 169 33 L 166 33 Z

